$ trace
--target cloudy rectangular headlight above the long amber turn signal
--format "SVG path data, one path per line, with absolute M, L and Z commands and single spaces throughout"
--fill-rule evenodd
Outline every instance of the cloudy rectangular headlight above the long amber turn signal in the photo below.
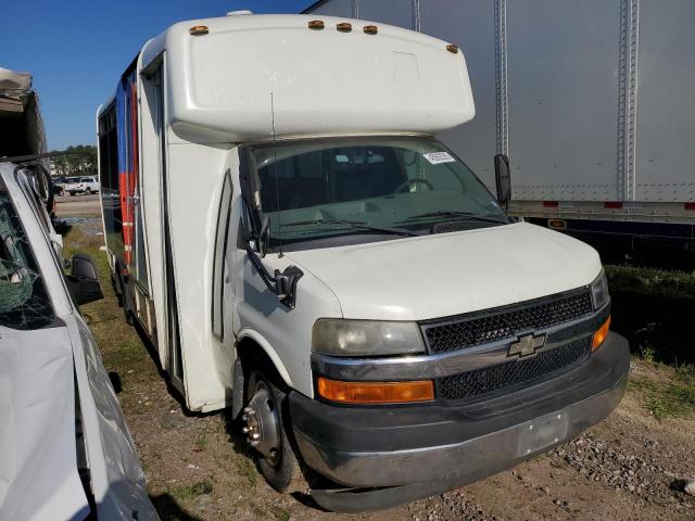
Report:
M 382 356 L 425 353 L 415 322 L 321 318 L 314 323 L 312 350 L 333 356 Z

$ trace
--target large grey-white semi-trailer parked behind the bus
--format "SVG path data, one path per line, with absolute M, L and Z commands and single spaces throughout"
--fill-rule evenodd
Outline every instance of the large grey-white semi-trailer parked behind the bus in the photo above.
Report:
M 695 3 L 324 0 L 306 13 L 412 28 L 466 53 L 477 116 L 442 132 L 510 212 L 589 240 L 695 245 Z

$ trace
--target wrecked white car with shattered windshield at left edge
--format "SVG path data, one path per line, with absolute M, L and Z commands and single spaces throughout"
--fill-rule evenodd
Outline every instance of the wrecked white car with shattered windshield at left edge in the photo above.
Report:
M 0 163 L 0 519 L 157 519 L 35 170 Z

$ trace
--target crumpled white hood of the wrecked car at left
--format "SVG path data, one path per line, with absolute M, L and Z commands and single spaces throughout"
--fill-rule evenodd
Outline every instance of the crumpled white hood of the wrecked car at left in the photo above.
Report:
M 0 519 L 84 519 L 65 327 L 0 327 Z

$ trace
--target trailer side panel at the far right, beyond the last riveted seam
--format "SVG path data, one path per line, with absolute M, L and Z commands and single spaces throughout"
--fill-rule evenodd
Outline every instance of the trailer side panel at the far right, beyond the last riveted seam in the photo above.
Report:
M 642 0 L 637 51 L 637 201 L 695 201 L 692 0 Z

